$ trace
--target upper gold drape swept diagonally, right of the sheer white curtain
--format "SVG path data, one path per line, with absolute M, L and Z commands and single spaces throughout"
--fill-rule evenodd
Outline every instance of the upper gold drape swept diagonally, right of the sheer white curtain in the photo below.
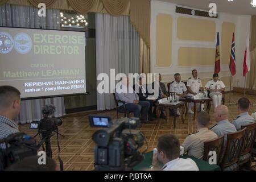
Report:
M 150 47 L 150 0 L 130 0 L 131 24 Z

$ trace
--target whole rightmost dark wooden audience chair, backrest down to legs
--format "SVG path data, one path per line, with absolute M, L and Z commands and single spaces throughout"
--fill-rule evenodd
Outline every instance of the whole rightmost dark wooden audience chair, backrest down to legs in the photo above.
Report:
M 240 155 L 238 165 L 245 164 L 245 168 L 251 167 L 251 151 L 253 150 L 253 144 L 256 137 L 256 122 L 250 125 L 242 126 L 245 129 L 245 139 L 243 140 L 243 147 Z

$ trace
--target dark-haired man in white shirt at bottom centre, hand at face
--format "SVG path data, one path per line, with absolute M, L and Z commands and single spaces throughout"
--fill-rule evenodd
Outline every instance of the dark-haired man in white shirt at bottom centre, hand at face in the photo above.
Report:
M 199 171 L 192 159 L 180 159 L 180 142 L 173 134 L 163 135 L 158 140 L 158 151 L 153 155 L 151 169 L 164 164 L 163 171 Z

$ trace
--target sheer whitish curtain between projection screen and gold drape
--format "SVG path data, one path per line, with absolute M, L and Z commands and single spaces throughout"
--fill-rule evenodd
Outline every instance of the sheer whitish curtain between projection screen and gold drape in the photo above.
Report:
M 139 73 L 139 35 L 129 16 L 96 14 L 97 75 L 110 69 L 118 73 Z M 98 81 L 99 83 L 100 81 Z M 110 89 L 109 89 L 110 92 Z M 113 94 L 97 92 L 97 109 L 114 109 Z

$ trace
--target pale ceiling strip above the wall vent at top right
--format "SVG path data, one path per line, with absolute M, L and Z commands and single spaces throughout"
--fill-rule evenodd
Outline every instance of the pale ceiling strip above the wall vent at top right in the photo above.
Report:
M 195 9 L 209 10 L 209 3 L 217 5 L 217 12 L 224 12 L 239 15 L 256 15 L 256 7 L 251 6 L 251 0 L 158 0 L 175 3 L 181 6 L 193 7 Z

